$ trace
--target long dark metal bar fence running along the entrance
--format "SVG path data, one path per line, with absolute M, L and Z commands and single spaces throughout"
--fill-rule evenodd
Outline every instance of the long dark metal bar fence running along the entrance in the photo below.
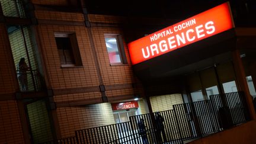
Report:
M 156 119 L 158 114 L 163 118 L 162 125 Z M 173 105 L 173 110 L 158 114 L 141 114 L 129 117 L 125 123 L 76 130 L 72 142 L 61 139 L 47 143 L 184 143 L 249 120 L 243 92 L 211 95 L 210 100 Z M 143 134 L 139 126 L 142 119 Z

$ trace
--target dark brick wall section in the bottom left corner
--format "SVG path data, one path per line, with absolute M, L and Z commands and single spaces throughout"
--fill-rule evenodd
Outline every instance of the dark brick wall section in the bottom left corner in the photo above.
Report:
M 24 143 L 17 103 L 0 101 L 0 143 Z

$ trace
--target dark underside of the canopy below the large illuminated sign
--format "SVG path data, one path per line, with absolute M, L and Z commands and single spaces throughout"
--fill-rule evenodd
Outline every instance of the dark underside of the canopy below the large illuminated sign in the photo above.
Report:
M 231 51 L 234 49 L 236 49 L 235 32 L 229 30 L 133 65 L 133 70 L 140 79 L 146 81 L 182 76 L 214 66 L 215 63 L 232 60 Z

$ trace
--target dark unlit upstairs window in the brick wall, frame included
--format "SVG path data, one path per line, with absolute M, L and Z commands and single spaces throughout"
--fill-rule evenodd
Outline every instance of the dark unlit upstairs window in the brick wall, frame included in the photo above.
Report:
M 75 33 L 55 33 L 55 40 L 62 67 L 82 66 Z

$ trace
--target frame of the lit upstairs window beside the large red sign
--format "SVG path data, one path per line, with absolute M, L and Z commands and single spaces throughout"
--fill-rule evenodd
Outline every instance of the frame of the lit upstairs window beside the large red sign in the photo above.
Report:
M 109 55 L 108 55 L 108 60 L 110 62 L 110 66 L 128 64 L 126 53 L 125 53 L 125 50 L 124 50 L 123 38 L 121 37 L 121 34 L 104 34 L 104 41 L 105 41 L 106 38 L 114 38 L 114 39 L 117 40 L 116 44 L 117 44 L 117 49 L 119 50 L 119 56 L 120 56 L 120 62 L 119 63 L 111 63 L 110 59 L 109 59 Z M 107 42 L 105 41 L 105 47 L 107 49 L 106 43 Z M 108 54 L 108 50 L 107 50 L 107 54 Z

